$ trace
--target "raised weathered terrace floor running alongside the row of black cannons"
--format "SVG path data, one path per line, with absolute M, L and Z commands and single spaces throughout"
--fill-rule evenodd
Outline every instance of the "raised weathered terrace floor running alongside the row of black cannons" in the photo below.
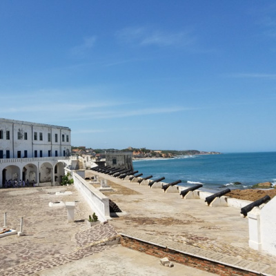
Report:
M 276 275 L 276 258 L 249 248 L 248 219 L 240 216 L 240 209 L 212 208 L 202 199 L 186 200 L 161 188 L 95 174 L 108 179 L 113 191 L 104 194 L 124 211 L 110 222 L 119 233 L 133 237 L 131 231 L 135 230 L 137 238 L 158 237 L 165 244 L 174 242 L 175 247 L 192 246 L 201 250 L 203 257 L 217 254 L 218 262 L 227 260 L 233 266 L 252 266 L 266 275 Z

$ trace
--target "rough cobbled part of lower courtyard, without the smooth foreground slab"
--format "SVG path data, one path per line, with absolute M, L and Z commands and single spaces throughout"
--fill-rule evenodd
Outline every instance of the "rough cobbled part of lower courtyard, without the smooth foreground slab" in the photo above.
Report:
M 0 190 L 1 206 L 5 206 L 1 213 L 8 211 L 8 227 L 19 230 L 22 216 L 26 234 L 0 239 L 1 276 L 35 275 L 117 246 L 118 234 L 111 224 L 88 228 L 85 219 L 91 211 L 73 187 L 66 188 L 72 191 L 67 196 L 57 197 L 56 190 L 64 188 Z M 77 201 L 76 222 L 68 224 L 66 208 L 49 207 L 50 201 Z

